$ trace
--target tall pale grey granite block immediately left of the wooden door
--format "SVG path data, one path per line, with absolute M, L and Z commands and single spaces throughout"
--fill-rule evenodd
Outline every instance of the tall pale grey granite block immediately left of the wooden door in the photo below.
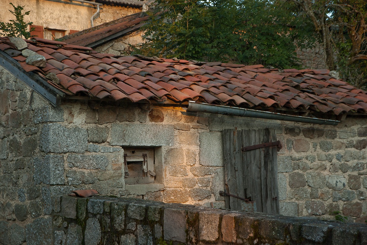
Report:
M 223 166 L 222 133 L 200 133 L 199 142 L 199 163 L 203 166 Z

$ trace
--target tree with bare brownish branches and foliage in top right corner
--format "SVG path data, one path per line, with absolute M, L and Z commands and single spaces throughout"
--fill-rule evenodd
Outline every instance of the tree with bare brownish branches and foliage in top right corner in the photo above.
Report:
M 318 33 L 330 70 L 359 87 L 367 88 L 367 3 L 365 0 L 278 0 L 293 4 Z

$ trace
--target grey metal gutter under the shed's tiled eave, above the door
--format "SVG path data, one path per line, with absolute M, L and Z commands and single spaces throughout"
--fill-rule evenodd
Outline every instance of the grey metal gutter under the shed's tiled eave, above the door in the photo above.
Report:
M 338 120 L 309 118 L 306 116 L 292 116 L 275 112 L 258 111 L 239 107 L 229 107 L 226 105 L 212 105 L 207 103 L 199 103 L 195 101 L 189 101 L 189 106 L 186 109 L 186 111 L 208 112 L 222 115 L 246 116 L 251 118 L 264 118 L 264 119 L 274 119 L 291 122 L 317 123 L 321 125 L 338 125 L 338 123 L 340 122 Z

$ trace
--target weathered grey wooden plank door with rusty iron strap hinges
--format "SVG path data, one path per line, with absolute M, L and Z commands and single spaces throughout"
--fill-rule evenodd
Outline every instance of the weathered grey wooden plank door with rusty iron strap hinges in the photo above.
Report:
M 257 212 L 279 214 L 277 147 L 242 152 L 242 147 L 276 141 L 274 129 L 225 129 L 223 152 L 227 192 L 254 201 Z M 226 198 L 226 208 L 242 210 L 243 200 Z

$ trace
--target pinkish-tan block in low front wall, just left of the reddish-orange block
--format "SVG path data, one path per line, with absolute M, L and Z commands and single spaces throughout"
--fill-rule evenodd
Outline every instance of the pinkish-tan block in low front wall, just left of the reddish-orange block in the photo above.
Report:
M 214 242 L 219 237 L 220 214 L 213 211 L 199 212 L 199 240 Z

